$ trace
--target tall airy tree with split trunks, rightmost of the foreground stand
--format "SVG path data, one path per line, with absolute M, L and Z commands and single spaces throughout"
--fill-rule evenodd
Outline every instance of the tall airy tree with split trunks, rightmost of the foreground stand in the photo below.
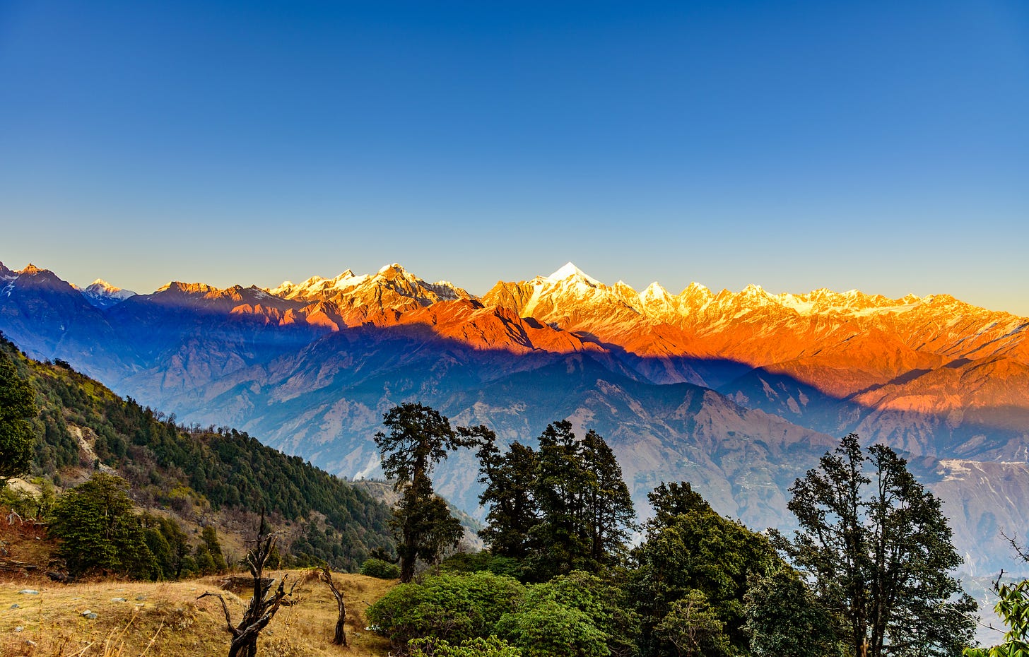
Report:
M 955 655 L 975 601 L 948 575 L 961 557 L 939 500 L 889 447 L 867 452 L 851 434 L 796 480 L 788 507 L 801 530 L 783 547 L 844 616 L 854 653 Z

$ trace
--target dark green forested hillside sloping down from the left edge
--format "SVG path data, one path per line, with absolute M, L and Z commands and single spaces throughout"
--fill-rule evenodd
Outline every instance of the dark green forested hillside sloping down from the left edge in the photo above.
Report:
M 390 512 L 382 502 L 298 457 L 235 429 L 182 427 L 174 415 L 122 399 L 63 361 L 32 361 L 2 338 L 0 359 L 35 391 L 35 475 L 61 485 L 66 468 L 106 466 L 130 482 L 138 505 L 202 523 L 211 512 L 247 516 L 263 509 L 295 527 L 283 554 L 294 563 L 356 571 L 372 550 L 392 549 Z M 95 436 L 94 463 L 80 463 L 73 426 Z

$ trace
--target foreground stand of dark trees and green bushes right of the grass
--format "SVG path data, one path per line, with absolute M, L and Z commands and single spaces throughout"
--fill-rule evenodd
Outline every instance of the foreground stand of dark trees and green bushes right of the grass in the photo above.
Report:
M 922 657 L 971 641 L 975 605 L 950 575 L 960 557 L 939 502 L 888 447 L 844 438 L 792 487 L 801 528 L 785 537 L 719 515 L 686 482 L 652 490 L 637 526 L 610 447 L 567 422 L 535 446 L 420 404 L 384 425 L 403 583 L 367 617 L 396 654 Z M 489 549 L 412 577 L 404 561 L 435 561 L 452 537 L 424 475 L 457 448 L 478 457 Z

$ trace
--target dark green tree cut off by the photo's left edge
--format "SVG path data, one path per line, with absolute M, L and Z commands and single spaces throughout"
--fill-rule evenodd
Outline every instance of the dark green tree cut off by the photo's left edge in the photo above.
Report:
M 38 413 L 32 385 L 0 349 L 0 485 L 29 471 L 35 439 L 31 421 Z

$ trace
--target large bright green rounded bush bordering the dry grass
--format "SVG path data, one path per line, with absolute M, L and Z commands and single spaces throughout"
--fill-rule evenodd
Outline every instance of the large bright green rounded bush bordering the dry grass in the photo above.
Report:
M 365 614 L 395 649 L 424 636 L 459 643 L 495 633 L 497 621 L 523 594 L 508 577 L 442 574 L 394 587 Z

